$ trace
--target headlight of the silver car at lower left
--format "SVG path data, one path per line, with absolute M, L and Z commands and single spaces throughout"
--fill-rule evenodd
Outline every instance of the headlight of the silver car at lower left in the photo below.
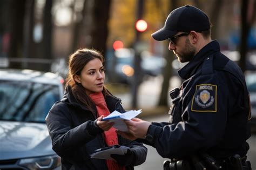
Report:
M 61 162 L 58 155 L 51 155 L 46 157 L 21 159 L 18 164 L 31 170 L 37 170 L 53 169 L 60 166 Z

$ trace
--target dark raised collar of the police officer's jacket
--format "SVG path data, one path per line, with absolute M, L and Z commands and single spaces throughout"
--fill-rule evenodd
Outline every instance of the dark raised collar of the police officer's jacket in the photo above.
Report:
M 217 51 L 220 51 L 219 43 L 217 40 L 213 40 L 211 43 L 205 45 L 187 65 L 178 70 L 179 76 L 183 79 L 191 77 L 196 72 L 199 65 L 203 63 L 204 59 Z

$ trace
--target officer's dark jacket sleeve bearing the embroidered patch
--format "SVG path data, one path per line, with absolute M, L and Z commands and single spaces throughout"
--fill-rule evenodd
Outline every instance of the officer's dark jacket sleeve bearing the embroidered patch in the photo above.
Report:
M 223 80 L 218 74 L 207 74 L 190 82 L 183 91 L 181 111 L 174 112 L 181 114 L 184 121 L 150 126 L 147 134 L 152 135 L 154 147 L 162 157 L 180 158 L 204 151 L 223 138 L 228 93 L 232 89 Z

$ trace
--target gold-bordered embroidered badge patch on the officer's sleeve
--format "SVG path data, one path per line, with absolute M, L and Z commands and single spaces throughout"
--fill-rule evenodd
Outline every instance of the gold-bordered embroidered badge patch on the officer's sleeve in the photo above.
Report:
M 217 85 L 196 85 L 191 111 L 193 112 L 217 112 Z

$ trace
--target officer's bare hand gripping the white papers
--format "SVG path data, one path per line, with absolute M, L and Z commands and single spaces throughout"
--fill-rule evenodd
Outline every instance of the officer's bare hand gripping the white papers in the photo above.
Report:
M 128 131 L 135 137 L 144 139 L 147 133 L 147 129 L 151 125 L 148 121 L 133 118 L 131 120 L 125 120 Z

